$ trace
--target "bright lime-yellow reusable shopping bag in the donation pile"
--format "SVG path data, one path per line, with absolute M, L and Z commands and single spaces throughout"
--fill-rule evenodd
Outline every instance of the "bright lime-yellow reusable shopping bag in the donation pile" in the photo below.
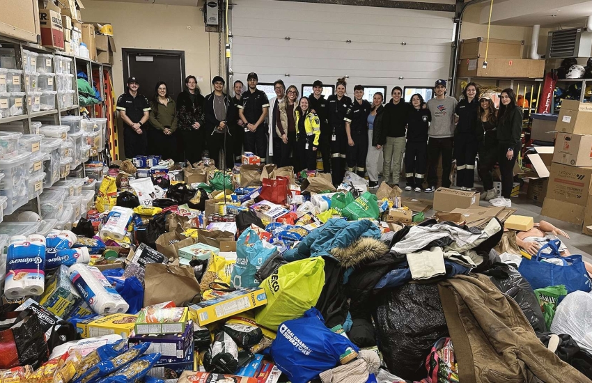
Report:
M 286 320 L 302 318 L 316 306 L 325 286 L 325 260 L 321 257 L 295 260 L 280 266 L 260 284 L 267 305 L 255 315 L 258 325 L 277 331 Z

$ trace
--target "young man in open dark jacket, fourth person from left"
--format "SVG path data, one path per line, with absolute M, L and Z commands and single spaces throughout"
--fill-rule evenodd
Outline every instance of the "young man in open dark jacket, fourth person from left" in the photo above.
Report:
M 224 79 L 216 76 L 212 79 L 214 91 L 205 96 L 205 134 L 207 136 L 210 159 L 218 169 L 234 166 L 233 139 L 228 130 L 228 121 L 235 119 L 235 108 L 231 99 L 224 93 Z M 224 148 L 224 159 L 220 162 L 220 151 Z

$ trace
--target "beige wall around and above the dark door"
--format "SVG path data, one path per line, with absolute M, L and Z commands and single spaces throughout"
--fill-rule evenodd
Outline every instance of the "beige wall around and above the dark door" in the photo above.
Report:
M 84 6 L 83 21 L 113 25 L 116 94 L 123 93 L 124 85 L 121 48 L 185 51 L 186 75 L 203 77 L 198 86 L 210 93 L 209 79 L 218 75 L 218 33 L 205 32 L 201 7 L 92 0 L 85 0 Z

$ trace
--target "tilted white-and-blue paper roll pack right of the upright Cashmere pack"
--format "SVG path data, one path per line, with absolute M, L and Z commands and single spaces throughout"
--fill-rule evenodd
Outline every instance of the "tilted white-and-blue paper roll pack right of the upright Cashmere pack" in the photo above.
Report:
M 68 273 L 72 284 L 95 313 L 125 313 L 130 308 L 98 268 L 76 263 L 70 266 Z

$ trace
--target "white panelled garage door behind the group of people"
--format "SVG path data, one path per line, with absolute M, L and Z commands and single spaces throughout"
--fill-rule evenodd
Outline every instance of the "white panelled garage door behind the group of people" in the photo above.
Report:
M 231 70 L 245 81 L 320 79 L 353 86 L 433 86 L 449 77 L 453 14 L 426 10 L 234 0 Z M 271 90 L 271 88 L 270 88 Z M 390 99 L 387 97 L 387 100 Z

